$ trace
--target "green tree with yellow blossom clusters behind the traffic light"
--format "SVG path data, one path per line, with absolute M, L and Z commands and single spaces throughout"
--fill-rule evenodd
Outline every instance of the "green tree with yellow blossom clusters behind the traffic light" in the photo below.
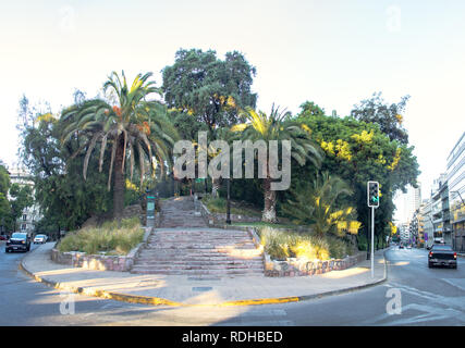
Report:
M 386 234 L 386 226 L 392 221 L 395 209 L 393 192 L 397 189 L 405 190 L 408 184 L 417 185 L 419 171 L 413 154 L 414 147 L 391 140 L 381 132 L 379 125 L 352 116 L 313 115 L 303 110 L 297 121 L 313 130 L 311 138 L 326 153 L 321 170 L 340 176 L 353 189 L 353 206 L 365 234 L 368 234 L 370 223 L 367 182 L 380 183 L 381 197 L 380 207 L 376 210 L 376 234 Z M 304 173 L 310 170 L 304 169 Z M 305 177 L 297 173 L 296 171 L 296 176 L 293 173 L 293 178 L 299 181 Z

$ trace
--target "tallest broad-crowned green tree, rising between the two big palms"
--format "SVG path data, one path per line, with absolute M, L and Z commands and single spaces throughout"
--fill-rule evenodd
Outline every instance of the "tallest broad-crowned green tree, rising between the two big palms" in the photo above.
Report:
M 256 70 L 236 51 L 222 61 L 212 50 L 181 49 L 162 74 L 167 105 L 192 115 L 209 130 L 236 124 L 238 109 L 255 108 L 257 95 L 250 86 Z

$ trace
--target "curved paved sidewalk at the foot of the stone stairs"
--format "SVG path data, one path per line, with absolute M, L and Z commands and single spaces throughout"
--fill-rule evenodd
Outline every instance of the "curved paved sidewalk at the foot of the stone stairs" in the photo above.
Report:
M 295 302 L 351 291 L 387 279 L 383 250 L 375 254 L 374 278 L 370 261 L 314 276 L 199 278 L 70 268 L 50 260 L 53 245 L 48 243 L 38 247 L 23 259 L 21 268 L 36 281 L 59 289 L 145 304 L 248 306 Z

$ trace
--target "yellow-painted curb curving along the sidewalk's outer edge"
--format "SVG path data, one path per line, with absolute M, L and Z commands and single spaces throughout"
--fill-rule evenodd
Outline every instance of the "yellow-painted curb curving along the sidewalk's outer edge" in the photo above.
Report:
M 388 249 L 389 250 L 389 249 Z M 164 298 L 160 297 L 149 297 L 149 296 L 137 296 L 137 295 L 127 295 L 127 294 L 120 294 L 120 293 L 112 293 L 107 290 L 99 290 L 99 289 L 91 289 L 91 288 L 84 288 L 84 287 L 75 287 L 75 286 L 69 286 L 63 285 L 61 283 L 57 283 L 53 281 L 49 281 L 46 278 L 42 278 L 29 270 L 27 270 L 24 266 L 24 259 L 21 261 L 19 269 L 25 272 L 28 276 L 34 278 L 38 283 L 42 283 L 47 286 L 53 287 L 56 289 L 60 290 L 66 290 L 69 293 L 78 294 L 78 295 L 85 295 L 85 296 L 91 296 L 91 297 L 99 297 L 105 299 L 111 299 L 122 302 L 129 302 L 129 303 L 138 303 L 138 304 L 149 304 L 149 306 L 171 306 L 171 307 L 238 307 L 238 306 L 259 306 L 259 304 L 278 304 L 278 303 L 289 303 L 289 302 L 302 302 L 307 301 L 316 298 L 322 298 L 333 295 L 341 295 L 345 293 L 352 293 L 355 290 L 360 290 L 364 288 L 369 288 L 376 285 L 380 285 L 384 283 L 388 279 L 388 262 L 386 260 L 386 251 L 383 251 L 383 259 L 384 259 L 384 276 L 383 278 L 371 282 L 364 285 L 358 285 L 350 288 L 339 289 L 339 290 L 331 290 L 320 294 L 313 294 L 313 295 L 304 295 L 304 296 L 290 296 L 290 297 L 276 297 L 276 298 L 259 298 L 259 299 L 245 299 L 245 300 L 236 300 L 236 301 L 227 301 L 221 303 L 201 303 L 201 304 L 189 304 L 189 303 L 183 303 L 183 302 L 175 302 L 171 301 Z

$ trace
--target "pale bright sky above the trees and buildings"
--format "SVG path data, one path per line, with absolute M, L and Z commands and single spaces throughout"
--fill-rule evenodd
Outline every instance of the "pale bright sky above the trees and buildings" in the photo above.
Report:
M 161 86 L 180 48 L 237 50 L 257 69 L 264 111 L 310 100 L 344 116 L 375 91 L 409 95 L 404 126 L 427 198 L 465 130 L 464 17 L 462 0 L 0 0 L 0 160 L 16 160 L 23 94 L 59 112 L 112 71 L 150 71 Z

